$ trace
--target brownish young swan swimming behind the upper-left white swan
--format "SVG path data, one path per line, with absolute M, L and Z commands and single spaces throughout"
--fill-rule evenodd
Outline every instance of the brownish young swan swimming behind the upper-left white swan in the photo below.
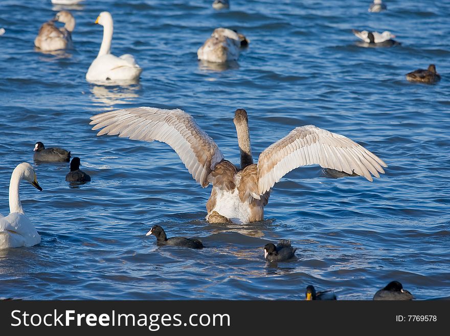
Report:
M 55 22 L 64 23 L 57 28 Z M 44 23 L 34 39 L 34 45 L 41 51 L 55 51 L 72 47 L 72 32 L 75 29 L 75 18 L 68 11 L 58 12 L 53 20 Z

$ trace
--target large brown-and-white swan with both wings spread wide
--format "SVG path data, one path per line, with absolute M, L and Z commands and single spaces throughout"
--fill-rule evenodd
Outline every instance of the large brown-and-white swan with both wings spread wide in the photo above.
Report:
M 249 120 L 245 109 L 234 115 L 240 151 L 240 166 L 224 159 L 214 140 L 194 118 L 181 109 L 136 107 L 91 117 L 97 136 L 153 140 L 170 145 L 201 187 L 212 184 L 206 204 L 206 220 L 243 224 L 264 219 L 271 188 L 289 171 L 317 164 L 372 182 L 384 173 L 385 162 L 347 137 L 314 125 L 300 126 L 268 146 L 253 163 Z

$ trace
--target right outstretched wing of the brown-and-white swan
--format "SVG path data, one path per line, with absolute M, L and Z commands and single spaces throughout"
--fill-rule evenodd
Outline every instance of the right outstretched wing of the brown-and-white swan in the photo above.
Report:
M 306 125 L 292 130 L 286 137 L 267 147 L 258 160 L 258 192 L 265 193 L 292 169 L 318 164 L 353 172 L 372 181 L 387 165 L 375 154 L 354 141 L 325 129 Z

